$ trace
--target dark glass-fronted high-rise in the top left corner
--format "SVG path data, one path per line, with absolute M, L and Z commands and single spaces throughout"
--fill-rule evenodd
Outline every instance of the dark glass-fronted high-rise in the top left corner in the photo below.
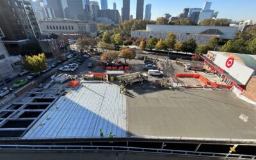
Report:
M 0 1 L 2 39 L 10 54 L 20 54 L 22 45 L 41 35 L 30 1 Z

